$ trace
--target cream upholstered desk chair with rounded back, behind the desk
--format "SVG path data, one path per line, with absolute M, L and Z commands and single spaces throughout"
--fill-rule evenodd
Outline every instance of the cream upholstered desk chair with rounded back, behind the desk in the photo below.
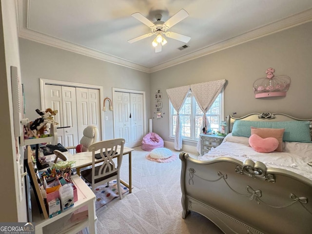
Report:
M 89 125 L 83 130 L 83 137 L 80 139 L 78 146 L 65 147 L 69 149 L 77 149 L 76 153 L 86 152 L 91 144 L 98 142 L 98 127 L 95 125 Z

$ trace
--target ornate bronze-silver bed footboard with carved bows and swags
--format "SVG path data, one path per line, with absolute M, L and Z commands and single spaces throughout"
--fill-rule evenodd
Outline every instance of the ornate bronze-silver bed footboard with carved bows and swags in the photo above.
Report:
M 312 180 L 250 159 L 179 157 L 182 218 L 197 212 L 226 234 L 312 233 Z

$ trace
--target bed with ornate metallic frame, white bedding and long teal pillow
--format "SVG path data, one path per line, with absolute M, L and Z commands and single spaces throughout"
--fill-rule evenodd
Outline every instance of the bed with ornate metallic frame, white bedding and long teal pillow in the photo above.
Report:
M 228 116 L 221 145 L 197 159 L 179 155 L 182 218 L 197 212 L 226 234 L 311 234 L 311 121 L 282 113 Z M 253 125 L 284 129 L 282 152 L 256 152 Z

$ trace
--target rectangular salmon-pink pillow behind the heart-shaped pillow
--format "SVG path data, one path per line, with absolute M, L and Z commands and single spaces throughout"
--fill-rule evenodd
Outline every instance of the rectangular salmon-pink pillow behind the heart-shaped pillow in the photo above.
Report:
M 256 134 L 262 138 L 274 137 L 278 140 L 277 152 L 283 152 L 283 135 L 284 128 L 255 128 L 251 127 L 251 134 Z

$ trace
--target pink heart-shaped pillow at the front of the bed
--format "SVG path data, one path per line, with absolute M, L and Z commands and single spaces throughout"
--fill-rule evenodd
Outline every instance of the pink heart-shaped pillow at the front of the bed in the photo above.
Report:
M 249 137 L 250 146 L 259 153 L 270 153 L 277 149 L 278 140 L 274 137 L 262 138 L 256 134 Z

